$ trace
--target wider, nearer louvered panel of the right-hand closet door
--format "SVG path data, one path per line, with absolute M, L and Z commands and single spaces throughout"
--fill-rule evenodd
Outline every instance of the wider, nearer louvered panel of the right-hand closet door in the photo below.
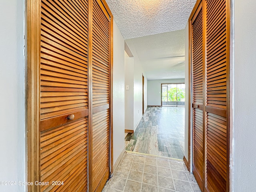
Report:
M 228 190 L 226 0 L 206 1 L 206 188 Z

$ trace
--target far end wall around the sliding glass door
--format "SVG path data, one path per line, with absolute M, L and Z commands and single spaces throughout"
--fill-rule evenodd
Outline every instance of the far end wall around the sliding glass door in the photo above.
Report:
M 161 106 L 161 84 L 162 83 L 184 83 L 185 79 L 160 79 L 148 80 L 147 96 L 148 105 Z

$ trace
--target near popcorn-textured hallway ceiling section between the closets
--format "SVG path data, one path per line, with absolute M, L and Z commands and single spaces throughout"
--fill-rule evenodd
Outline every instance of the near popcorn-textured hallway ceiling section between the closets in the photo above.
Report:
M 196 0 L 106 0 L 125 39 L 181 30 Z

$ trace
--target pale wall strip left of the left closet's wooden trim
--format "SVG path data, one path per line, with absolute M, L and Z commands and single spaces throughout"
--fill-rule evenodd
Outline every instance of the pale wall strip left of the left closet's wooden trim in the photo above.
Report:
M 16 182 L 0 184 L 4 192 L 25 191 L 24 5 L 0 1 L 0 181 Z

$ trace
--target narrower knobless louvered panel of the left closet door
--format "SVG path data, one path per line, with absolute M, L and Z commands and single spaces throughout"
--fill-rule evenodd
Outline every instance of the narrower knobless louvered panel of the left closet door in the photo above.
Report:
M 110 176 L 110 16 L 92 1 L 92 191 Z

